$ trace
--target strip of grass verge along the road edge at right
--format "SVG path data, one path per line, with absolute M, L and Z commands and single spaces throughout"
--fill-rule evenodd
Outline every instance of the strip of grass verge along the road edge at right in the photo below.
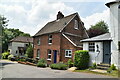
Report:
M 118 70 L 114 70 L 114 71 L 112 71 L 112 73 L 100 73 L 100 72 L 90 71 L 88 69 L 86 69 L 86 70 L 74 70 L 73 72 L 101 74 L 101 75 L 107 75 L 107 76 L 112 76 L 112 77 L 118 77 L 118 74 L 120 75 L 120 72 L 118 73 Z

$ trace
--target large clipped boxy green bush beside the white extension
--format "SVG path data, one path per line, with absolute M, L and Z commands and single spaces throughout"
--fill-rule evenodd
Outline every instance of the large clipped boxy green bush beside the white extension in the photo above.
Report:
M 74 65 L 77 69 L 87 69 L 89 66 L 89 53 L 86 50 L 75 52 Z

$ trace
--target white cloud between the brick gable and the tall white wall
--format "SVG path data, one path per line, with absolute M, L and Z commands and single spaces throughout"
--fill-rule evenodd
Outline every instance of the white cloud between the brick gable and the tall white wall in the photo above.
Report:
M 87 29 L 101 20 L 104 20 L 109 25 L 109 9 L 104 10 L 102 13 L 94 13 L 91 16 L 81 18 L 81 20 Z

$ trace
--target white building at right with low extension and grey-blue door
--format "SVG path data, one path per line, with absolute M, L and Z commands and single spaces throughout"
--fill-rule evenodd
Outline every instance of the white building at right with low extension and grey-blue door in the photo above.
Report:
M 82 40 L 83 49 L 89 51 L 90 65 L 96 62 L 115 64 L 119 67 L 120 0 L 109 2 L 106 6 L 110 8 L 110 33 Z

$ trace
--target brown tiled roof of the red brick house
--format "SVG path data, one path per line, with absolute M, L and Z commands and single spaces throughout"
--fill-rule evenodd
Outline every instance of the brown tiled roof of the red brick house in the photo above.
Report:
M 62 19 L 54 20 L 52 22 L 48 22 L 41 30 L 39 30 L 34 36 L 39 36 L 47 33 L 60 32 L 66 25 L 69 23 L 71 19 L 76 16 L 77 13 L 71 14 L 69 16 L 65 16 Z

